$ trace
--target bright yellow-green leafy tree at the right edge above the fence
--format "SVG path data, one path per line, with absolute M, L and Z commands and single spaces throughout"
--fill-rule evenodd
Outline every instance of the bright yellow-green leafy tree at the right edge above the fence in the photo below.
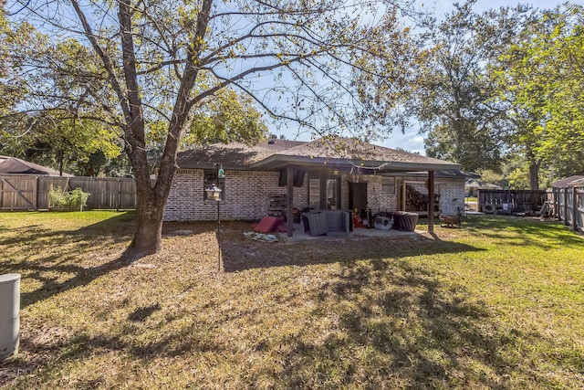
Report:
M 584 13 L 566 5 L 525 26 L 493 74 L 516 132 L 510 143 L 529 163 L 529 186 L 543 166 L 558 176 L 584 170 Z

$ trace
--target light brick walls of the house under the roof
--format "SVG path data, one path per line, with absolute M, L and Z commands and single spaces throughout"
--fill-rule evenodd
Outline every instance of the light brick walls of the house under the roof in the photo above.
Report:
M 269 197 L 286 195 L 286 187 L 279 187 L 277 172 L 227 171 L 225 199 L 220 204 L 221 219 L 257 220 L 267 216 Z M 217 217 L 217 204 L 203 199 L 203 170 L 181 169 L 174 175 L 171 193 L 164 209 L 165 221 L 211 221 Z M 340 180 L 341 207 L 349 209 L 349 182 L 367 183 L 367 198 L 373 214 L 396 211 L 402 180 L 425 181 L 420 177 L 396 178 L 395 192 L 384 194 L 379 175 L 344 174 Z M 302 187 L 294 187 L 293 207 L 302 210 L 308 205 L 308 176 Z M 436 179 L 443 214 L 455 215 L 458 207 L 464 209 L 464 179 Z

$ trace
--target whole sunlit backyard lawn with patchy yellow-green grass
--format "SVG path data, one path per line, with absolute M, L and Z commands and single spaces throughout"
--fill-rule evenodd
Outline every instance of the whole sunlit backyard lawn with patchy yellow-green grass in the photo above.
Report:
M 584 238 L 469 216 L 399 239 L 249 240 L 167 224 L 130 263 L 135 214 L 0 214 L 22 274 L 4 388 L 584 388 Z

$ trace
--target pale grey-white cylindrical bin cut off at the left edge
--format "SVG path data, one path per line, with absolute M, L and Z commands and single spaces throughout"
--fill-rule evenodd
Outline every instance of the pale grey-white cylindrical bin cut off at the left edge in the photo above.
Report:
M 0 275 L 0 361 L 18 353 L 20 274 Z

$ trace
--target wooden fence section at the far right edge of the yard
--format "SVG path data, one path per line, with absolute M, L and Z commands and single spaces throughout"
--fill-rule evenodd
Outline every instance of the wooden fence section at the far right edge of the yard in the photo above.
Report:
M 547 192 L 553 216 L 574 231 L 584 232 L 584 186 L 553 188 Z

